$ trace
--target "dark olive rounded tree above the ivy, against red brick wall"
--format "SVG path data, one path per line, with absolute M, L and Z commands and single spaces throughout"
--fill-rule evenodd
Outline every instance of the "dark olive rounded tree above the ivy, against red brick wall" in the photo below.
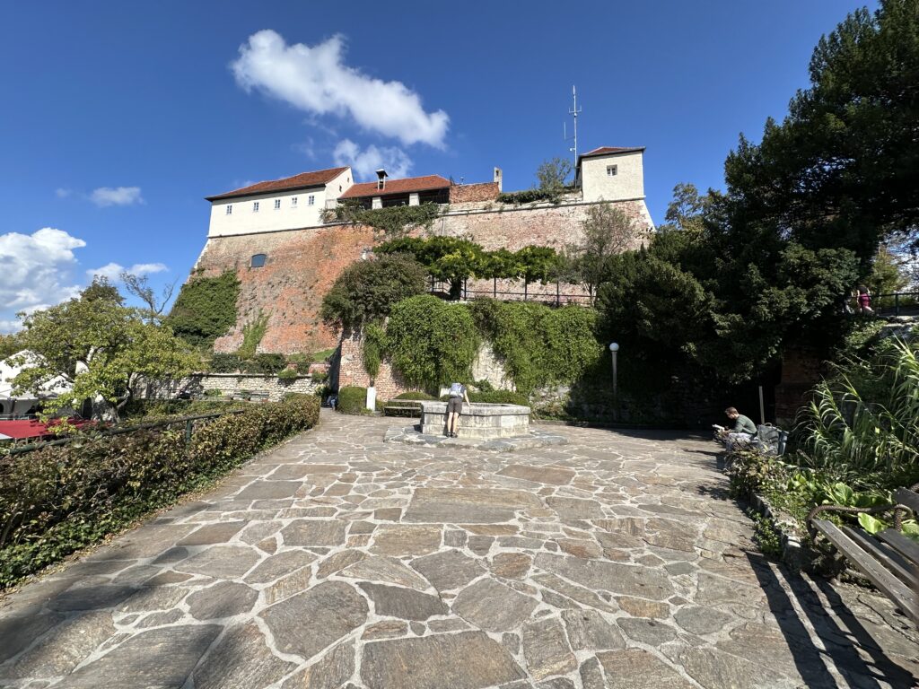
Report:
M 384 319 L 398 301 L 425 292 L 425 268 L 406 254 L 379 254 L 348 265 L 323 297 L 323 322 L 360 331 Z

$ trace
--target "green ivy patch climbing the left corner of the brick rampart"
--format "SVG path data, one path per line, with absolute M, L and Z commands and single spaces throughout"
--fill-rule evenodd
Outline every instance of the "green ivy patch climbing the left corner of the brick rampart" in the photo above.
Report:
M 214 344 L 236 322 L 239 280 L 228 270 L 218 277 L 196 277 L 182 286 L 166 322 L 189 344 Z

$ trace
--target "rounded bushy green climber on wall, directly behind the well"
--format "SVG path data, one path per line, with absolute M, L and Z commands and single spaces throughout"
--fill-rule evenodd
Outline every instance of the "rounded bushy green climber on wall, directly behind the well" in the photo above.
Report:
M 396 304 L 386 339 L 393 366 L 407 382 L 426 389 L 471 378 L 479 350 L 469 309 L 426 295 Z

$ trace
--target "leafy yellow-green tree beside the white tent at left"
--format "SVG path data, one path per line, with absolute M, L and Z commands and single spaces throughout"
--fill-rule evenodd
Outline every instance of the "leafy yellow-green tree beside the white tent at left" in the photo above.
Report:
M 92 400 L 94 416 L 117 419 L 144 381 L 181 378 L 200 364 L 169 327 L 110 299 L 70 299 L 29 314 L 23 324 L 22 344 L 40 359 L 15 378 L 16 390 L 40 390 L 62 374 L 73 382 L 72 390 L 45 402 L 46 416 Z

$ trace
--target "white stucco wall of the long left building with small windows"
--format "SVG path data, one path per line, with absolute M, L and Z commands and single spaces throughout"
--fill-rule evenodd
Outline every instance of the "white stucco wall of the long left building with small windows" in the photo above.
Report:
M 351 168 L 332 179 L 327 185 L 312 186 L 296 191 L 274 191 L 247 197 L 221 198 L 210 204 L 209 237 L 249 232 L 274 232 L 315 227 L 323 224 L 320 212 L 327 201 L 334 201 L 354 184 Z M 312 197 L 312 204 L 310 203 Z M 297 199 L 296 205 L 293 199 Z M 280 207 L 275 208 L 275 201 Z M 258 203 L 258 210 L 254 209 Z M 227 206 L 233 212 L 227 214 Z

